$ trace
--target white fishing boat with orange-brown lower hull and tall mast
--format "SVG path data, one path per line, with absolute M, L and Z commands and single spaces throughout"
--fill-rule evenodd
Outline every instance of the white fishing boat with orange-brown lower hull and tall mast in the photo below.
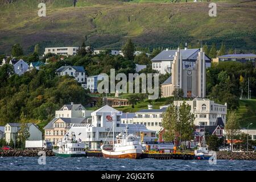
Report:
M 105 144 L 104 142 L 104 144 L 101 146 L 102 155 L 104 156 L 104 158 L 140 159 L 142 155 L 141 137 L 136 137 L 133 134 L 128 134 L 127 128 L 125 132 L 120 133 L 116 137 L 114 137 L 115 119 L 112 119 L 112 121 L 112 144 Z

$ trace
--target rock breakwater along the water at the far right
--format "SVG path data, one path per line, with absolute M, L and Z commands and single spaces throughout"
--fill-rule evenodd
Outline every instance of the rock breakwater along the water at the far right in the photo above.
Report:
M 217 152 L 217 159 L 256 160 L 255 152 Z

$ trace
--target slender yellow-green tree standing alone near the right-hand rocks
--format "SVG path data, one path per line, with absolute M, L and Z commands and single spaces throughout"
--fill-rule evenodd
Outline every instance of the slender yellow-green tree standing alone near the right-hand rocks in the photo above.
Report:
M 240 134 L 240 123 L 238 121 L 236 111 L 228 113 L 225 132 L 227 138 L 231 140 L 231 151 L 233 151 L 233 140 Z

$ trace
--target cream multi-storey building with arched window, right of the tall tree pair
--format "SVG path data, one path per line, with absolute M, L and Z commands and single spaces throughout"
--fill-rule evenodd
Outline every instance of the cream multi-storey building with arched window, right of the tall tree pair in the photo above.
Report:
M 174 101 L 174 105 L 179 107 L 183 102 Z M 191 106 L 191 113 L 195 114 L 196 126 L 213 126 L 218 117 L 222 118 L 224 124 L 226 123 L 227 104 L 217 104 L 204 98 L 195 98 L 192 101 L 185 101 L 185 103 Z M 160 108 L 168 106 L 160 106 Z

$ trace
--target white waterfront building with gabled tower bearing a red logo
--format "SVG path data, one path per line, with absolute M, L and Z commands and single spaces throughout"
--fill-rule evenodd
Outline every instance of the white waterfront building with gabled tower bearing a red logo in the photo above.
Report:
M 109 143 L 113 141 L 113 122 L 114 136 L 128 130 L 129 134 L 135 134 L 138 137 L 143 133 L 143 141 L 151 142 L 156 139 L 155 131 L 147 130 L 144 125 L 122 124 L 122 112 L 105 105 L 92 112 L 92 123 L 73 124 L 69 133 L 74 132 L 76 138 L 86 144 L 90 150 L 100 150 L 101 144 L 106 140 Z M 108 136 L 108 137 L 107 137 Z

